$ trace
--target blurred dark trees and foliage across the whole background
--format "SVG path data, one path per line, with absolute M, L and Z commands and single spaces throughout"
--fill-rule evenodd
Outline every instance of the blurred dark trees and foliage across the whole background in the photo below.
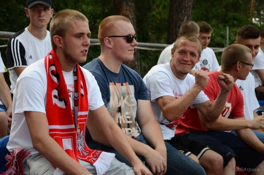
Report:
M 191 3 L 191 19 L 185 20 L 206 21 L 213 28 L 209 47 L 223 48 L 227 45 L 226 27 L 229 27 L 228 44 L 235 41 L 238 28 L 245 24 L 253 24 L 259 29 L 264 28 L 264 1 L 263 0 L 123 0 L 134 4 L 136 18 L 136 31 L 138 42 L 165 44 L 168 38 L 176 39 L 177 34 L 168 35 L 168 29 L 178 29 L 180 26 L 169 24 L 170 6 L 177 1 Z M 53 0 L 54 12 L 63 9 L 74 9 L 82 12 L 89 20 L 92 32 L 91 38 L 97 39 L 98 26 L 103 18 L 116 15 L 115 3 L 117 0 Z M 254 4 L 253 8 L 251 4 Z M 17 32 L 29 24 L 24 7 L 25 0 L 4 1 L 0 7 L 0 31 Z M 129 7 L 128 7 L 129 8 Z M 250 12 L 253 10 L 253 13 Z M 182 12 L 174 11 L 170 15 L 182 15 Z M 184 14 L 183 14 L 184 15 Z M 251 19 L 253 18 L 253 19 Z M 182 21 L 183 22 L 183 21 Z M 178 30 L 177 30 L 178 31 Z M 0 46 L 6 45 L 7 40 L 0 40 Z M 166 43 L 171 44 L 171 43 Z M 0 47 L 2 59 L 6 64 L 6 47 Z M 156 65 L 162 50 L 139 50 L 140 75 L 143 77 L 152 66 Z M 100 46 L 90 46 L 87 61 L 100 55 Z M 218 62 L 221 62 L 221 52 L 216 53 Z M 83 64 L 81 64 L 83 65 Z M 5 73 L 9 83 L 8 73 Z

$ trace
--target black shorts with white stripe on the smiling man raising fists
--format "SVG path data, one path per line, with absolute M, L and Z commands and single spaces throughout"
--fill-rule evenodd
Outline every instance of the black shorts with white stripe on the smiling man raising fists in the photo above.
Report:
M 196 142 L 177 135 L 175 135 L 171 140 L 165 140 L 165 142 L 168 142 L 171 146 L 187 156 L 190 154 L 196 155 L 198 159 L 202 157 L 205 151 L 210 149 L 207 145 L 204 145 L 200 142 Z

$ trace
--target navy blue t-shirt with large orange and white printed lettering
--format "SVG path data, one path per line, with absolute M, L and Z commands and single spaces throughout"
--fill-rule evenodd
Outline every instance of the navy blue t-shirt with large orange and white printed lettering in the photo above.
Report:
M 83 68 L 94 75 L 103 102 L 117 125 L 127 135 L 143 141 L 137 124 L 137 103 L 138 99 L 149 100 L 149 97 L 139 74 L 124 64 L 121 64 L 119 73 L 114 73 L 99 58 L 93 59 Z

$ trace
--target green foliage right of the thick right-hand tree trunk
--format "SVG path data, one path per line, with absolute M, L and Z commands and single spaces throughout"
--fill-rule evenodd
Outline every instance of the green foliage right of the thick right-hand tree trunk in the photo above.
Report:
M 252 0 L 255 2 L 254 18 L 258 18 L 258 24 L 250 20 L 251 1 L 249 0 L 226 0 L 206 1 L 194 0 L 192 9 L 192 20 L 206 21 L 213 28 L 209 47 L 226 46 L 226 27 L 229 27 L 229 42 L 233 44 L 237 30 L 246 24 L 255 25 L 257 28 L 264 28 L 264 1 Z M 261 15 L 262 14 L 262 15 Z M 219 64 L 221 63 L 222 52 L 216 52 Z

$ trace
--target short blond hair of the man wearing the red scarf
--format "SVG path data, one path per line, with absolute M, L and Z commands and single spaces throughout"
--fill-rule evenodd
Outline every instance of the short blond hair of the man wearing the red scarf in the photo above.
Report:
M 52 19 L 50 24 L 51 46 L 56 49 L 57 46 L 53 41 L 55 35 L 64 37 L 68 30 L 69 22 L 72 20 L 82 20 L 89 23 L 88 19 L 81 12 L 76 10 L 65 9 L 59 11 Z

